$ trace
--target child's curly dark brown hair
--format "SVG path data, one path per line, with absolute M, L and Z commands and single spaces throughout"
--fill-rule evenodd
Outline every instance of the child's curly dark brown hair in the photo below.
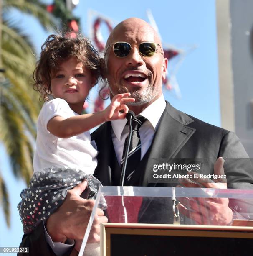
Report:
M 80 34 L 76 38 L 52 34 L 41 46 L 40 59 L 33 72 L 33 88 L 41 93 L 44 101 L 48 101 L 48 96 L 52 94 L 51 79 L 56 74 L 58 66 L 70 57 L 76 57 L 90 69 L 96 83 L 102 77 L 104 61 L 89 39 Z

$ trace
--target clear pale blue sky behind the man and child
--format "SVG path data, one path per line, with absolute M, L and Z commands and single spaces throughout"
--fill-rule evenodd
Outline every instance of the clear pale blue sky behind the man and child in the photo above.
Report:
M 45 2 L 52 3 L 50 0 Z M 165 99 L 175 108 L 187 114 L 220 126 L 215 0 L 128 0 L 122 2 L 80 0 L 74 13 L 81 18 L 83 33 L 88 35 L 88 10 L 111 18 L 116 25 L 129 17 L 138 17 L 148 21 L 147 9 L 152 10 L 163 44 L 173 45 L 186 51 L 185 58 L 176 73 L 182 98 L 179 100 L 173 92 L 164 90 Z M 38 22 L 28 15 L 20 15 L 13 11 L 10 18 L 18 20 L 21 28 L 30 36 L 39 53 L 40 46 L 52 31 L 44 31 Z M 108 33 L 104 25 L 102 26 L 102 35 L 106 40 Z M 191 48 L 192 50 L 187 52 L 187 49 Z M 169 62 L 170 70 L 175 69 L 176 61 L 177 59 Z M 23 231 L 16 206 L 25 183 L 13 178 L 8 157 L 1 145 L 0 162 L 11 204 L 10 229 L 6 227 L 3 210 L 0 209 L 0 246 L 18 246 Z

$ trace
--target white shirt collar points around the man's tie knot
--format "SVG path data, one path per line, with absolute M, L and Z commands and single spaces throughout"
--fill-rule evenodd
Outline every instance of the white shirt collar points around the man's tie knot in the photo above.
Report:
M 147 106 L 139 115 L 144 116 L 149 120 L 154 130 L 157 127 L 157 124 L 162 116 L 162 113 L 166 107 L 166 102 L 164 100 L 163 95 L 161 95 L 157 100 L 152 102 L 150 105 Z M 118 119 L 111 121 L 111 127 L 116 135 L 117 139 L 121 140 L 121 134 L 126 126 L 126 118 L 125 119 Z

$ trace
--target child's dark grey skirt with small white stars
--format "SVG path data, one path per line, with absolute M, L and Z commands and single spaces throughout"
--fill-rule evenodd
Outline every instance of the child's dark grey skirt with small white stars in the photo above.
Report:
M 41 221 L 46 220 L 66 198 L 68 189 L 72 189 L 84 179 L 88 181 L 88 187 L 81 197 L 95 199 L 101 182 L 93 175 L 85 174 L 78 169 L 56 167 L 35 172 L 30 179 L 29 187 L 22 190 L 21 202 L 18 204 L 23 231 L 28 234 L 35 230 Z M 102 210 L 106 209 L 106 203 L 100 202 Z

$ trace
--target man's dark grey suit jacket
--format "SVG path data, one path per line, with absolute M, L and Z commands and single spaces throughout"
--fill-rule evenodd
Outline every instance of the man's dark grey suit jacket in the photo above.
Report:
M 97 156 L 98 166 L 94 176 L 98 178 L 104 186 L 112 185 L 112 174 L 120 174 L 119 164 L 116 161 L 114 147 L 111 139 L 111 123 L 106 122 L 101 125 L 94 133 L 91 139 L 96 141 L 99 151 Z M 155 184 L 148 181 L 152 175 L 152 159 L 172 159 L 172 158 L 210 158 L 217 159 L 219 156 L 223 158 L 248 158 L 248 154 L 240 143 L 238 137 L 230 131 L 215 127 L 198 120 L 197 118 L 186 115 L 173 108 L 168 102 L 164 113 L 162 114 L 157 131 L 154 134 L 152 145 L 147 154 L 142 159 L 142 164 L 137 168 L 141 172 L 139 181 L 140 186 L 168 186 L 172 184 Z M 225 169 L 225 173 L 230 176 L 230 188 L 249 188 L 252 189 L 253 172 L 250 164 L 242 161 L 235 161 L 229 168 Z M 250 169 L 251 168 L 251 169 Z M 213 173 L 213 166 L 205 170 L 205 173 Z M 238 182 L 248 182 L 242 184 Z M 119 184 L 114 184 L 119 185 Z M 144 202 L 142 208 L 159 209 L 163 202 L 157 202 L 155 205 L 149 200 Z M 168 204 L 171 209 L 171 205 Z M 142 211 L 141 211 L 142 212 Z M 150 212 L 150 211 L 149 211 Z M 165 219 L 167 211 L 160 213 Z M 171 217 L 168 223 L 171 222 Z M 157 214 L 152 216 L 139 216 L 142 223 L 159 223 Z M 54 255 L 45 241 L 43 225 L 31 234 L 23 236 L 20 246 L 30 247 L 30 255 Z

